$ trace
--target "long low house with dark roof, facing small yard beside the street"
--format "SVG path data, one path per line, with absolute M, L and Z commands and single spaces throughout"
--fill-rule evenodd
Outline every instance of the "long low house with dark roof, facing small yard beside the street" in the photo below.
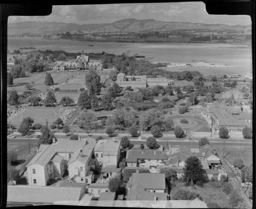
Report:
M 167 154 L 158 150 L 129 150 L 126 153 L 127 167 L 148 167 L 164 165 Z

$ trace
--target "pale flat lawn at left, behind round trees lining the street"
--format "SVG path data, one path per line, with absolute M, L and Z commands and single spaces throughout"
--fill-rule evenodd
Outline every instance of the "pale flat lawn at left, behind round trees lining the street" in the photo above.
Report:
M 73 109 L 71 107 L 69 107 L 68 109 Z M 23 116 L 23 118 L 25 117 L 31 117 L 34 118 L 34 124 L 36 123 L 40 123 L 40 124 L 46 124 L 46 119 L 49 123 L 49 125 L 51 123 L 53 123 L 59 116 L 59 110 L 60 108 L 25 108 L 24 112 L 20 112 L 17 113 L 17 116 L 12 116 L 10 118 L 8 118 L 8 120 L 10 119 L 11 124 L 16 125 L 17 127 L 19 126 L 19 124 L 22 121 L 21 116 Z M 61 111 L 61 113 L 65 112 L 66 108 L 63 108 L 63 110 Z M 55 116 L 54 112 L 57 112 L 57 116 Z

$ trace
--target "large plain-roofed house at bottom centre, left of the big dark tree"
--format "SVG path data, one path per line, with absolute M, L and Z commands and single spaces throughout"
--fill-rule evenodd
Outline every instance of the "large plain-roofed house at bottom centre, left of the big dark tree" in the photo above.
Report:
M 165 174 L 133 173 L 126 188 L 126 201 L 167 200 Z

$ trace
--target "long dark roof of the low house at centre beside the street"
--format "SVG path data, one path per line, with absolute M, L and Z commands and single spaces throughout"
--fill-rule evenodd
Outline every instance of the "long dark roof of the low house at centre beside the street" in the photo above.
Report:
M 129 150 L 126 153 L 126 162 L 137 162 L 138 159 L 158 159 L 167 160 L 167 154 L 159 150 Z

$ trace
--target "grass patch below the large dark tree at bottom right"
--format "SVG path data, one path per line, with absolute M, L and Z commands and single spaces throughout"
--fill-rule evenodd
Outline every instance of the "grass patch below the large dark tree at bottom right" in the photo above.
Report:
M 196 188 L 197 189 L 192 189 L 191 187 L 184 186 L 182 182 L 176 182 L 176 186 L 173 187 L 170 192 L 171 200 L 172 196 L 175 195 L 179 189 L 184 189 L 199 194 L 206 204 L 209 202 L 217 202 L 221 208 L 227 206 L 229 196 L 222 192 L 221 189 L 216 189 L 210 184 L 205 184 L 202 188 L 196 186 Z

